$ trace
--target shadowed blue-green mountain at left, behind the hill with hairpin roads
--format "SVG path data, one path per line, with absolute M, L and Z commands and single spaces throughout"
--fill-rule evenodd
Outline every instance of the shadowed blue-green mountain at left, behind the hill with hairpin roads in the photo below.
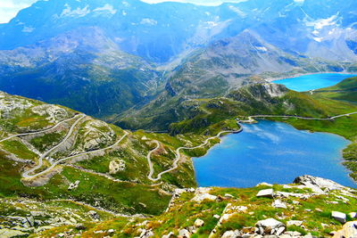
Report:
M 161 80 L 150 64 L 120 51 L 97 28 L 0 53 L 0 62 L 0 87 L 6 92 L 97 117 L 145 102 Z

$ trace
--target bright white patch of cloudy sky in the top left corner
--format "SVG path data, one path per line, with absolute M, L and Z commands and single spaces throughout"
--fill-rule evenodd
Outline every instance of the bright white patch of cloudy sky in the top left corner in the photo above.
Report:
M 9 22 L 21 9 L 35 2 L 37 0 L 0 0 L 0 23 Z

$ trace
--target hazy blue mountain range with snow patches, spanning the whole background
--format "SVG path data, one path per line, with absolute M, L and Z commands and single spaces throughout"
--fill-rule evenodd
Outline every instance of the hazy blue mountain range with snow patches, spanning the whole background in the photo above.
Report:
M 0 89 L 130 128 L 145 123 L 125 120 L 159 115 L 159 104 L 170 119 L 155 127 L 167 128 L 187 100 L 267 78 L 355 71 L 353 9 L 352 0 L 38 1 L 0 25 Z

